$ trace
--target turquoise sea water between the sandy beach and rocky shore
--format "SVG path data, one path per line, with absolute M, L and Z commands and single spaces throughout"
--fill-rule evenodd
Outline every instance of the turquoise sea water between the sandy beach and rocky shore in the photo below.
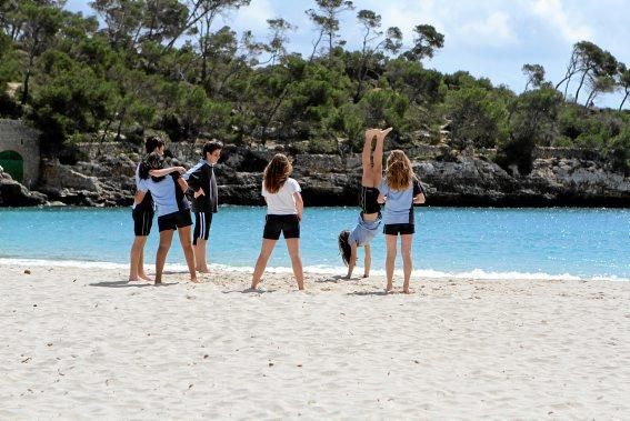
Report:
M 214 215 L 209 260 L 252 267 L 264 208 L 221 207 Z M 352 228 L 356 208 L 310 208 L 301 251 L 311 270 L 343 272 L 337 233 Z M 630 280 L 630 210 L 417 208 L 413 240 L 419 275 L 582 278 Z M 126 264 L 133 238 L 130 209 L 2 209 L 0 259 Z M 146 249 L 154 261 L 157 220 Z M 373 241 L 373 269 L 384 267 L 384 239 Z M 362 259 L 362 252 L 360 252 Z M 177 239 L 168 264 L 183 264 Z M 270 267 L 290 265 L 281 240 Z M 360 264 L 361 265 L 361 264 Z M 399 262 L 400 265 L 400 262 Z

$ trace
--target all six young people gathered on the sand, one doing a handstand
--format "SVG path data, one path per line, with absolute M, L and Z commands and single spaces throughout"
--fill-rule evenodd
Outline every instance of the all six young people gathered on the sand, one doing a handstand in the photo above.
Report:
M 386 291 L 393 291 L 393 270 L 397 240 L 400 235 L 403 261 L 403 292 L 409 293 L 414 233 L 413 206 L 424 203 L 424 191 L 413 173 L 411 161 L 401 150 L 393 150 L 382 168 L 384 138 L 391 128 L 368 129 L 361 154 L 362 177 L 360 191 L 361 212 L 357 227 L 339 233 L 338 244 L 350 279 L 357 264 L 358 248 L 364 249 L 363 277 L 370 274 L 370 242 L 381 224 L 386 235 Z M 372 148 L 373 147 L 373 148 Z M 208 272 L 206 245 L 212 214 L 218 211 L 218 187 L 214 166 L 221 157 L 222 143 L 209 141 L 203 146 L 202 158 L 188 171 L 182 167 L 166 167 L 164 142 L 156 137 L 147 139 L 147 156 L 136 170 L 137 193 L 133 203 L 136 238 L 130 253 L 129 280 L 149 280 L 143 269 L 143 249 L 152 225 L 154 209 L 158 213 L 160 244 L 156 257 L 156 284 L 162 282 L 167 253 L 174 231 L 186 257 L 190 280 L 198 282 L 197 272 Z M 262 247 L 251 279 L 252 291 L 264 291 L 260 281 L 280 234 L 284 237 L 298 289 L 304 289 L 300 257 L 300 222 L 304 203 L 298 181 L 291 178 L 292 164 L 277 153 L 267 164 L 261 194 L 267 203 L 267 218 L 262 231 Z M 190 198 L 190 199 L 189 199 Z M 381 206 L 384 210 L 381 212 Z M 194 230 L 191 239 L 191 210 Z

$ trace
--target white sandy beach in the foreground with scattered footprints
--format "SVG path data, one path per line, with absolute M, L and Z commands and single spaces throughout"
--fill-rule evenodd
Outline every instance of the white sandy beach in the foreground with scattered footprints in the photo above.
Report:
M 0 265 L 0 419 L 630 418 L 630 282 L 126 277 Z

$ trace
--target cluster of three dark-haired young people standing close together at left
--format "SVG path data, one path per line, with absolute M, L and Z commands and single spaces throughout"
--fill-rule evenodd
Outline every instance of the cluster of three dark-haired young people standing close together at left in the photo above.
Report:
M 162 283 L 164 262 L 176 230 L 179 233 L 190 280 L 198 282 L 197 272 L 209 272 L 206 244 L 210 235 L 212 213 L 218 211 L 219 194 L 214 164 L 221 157 L 222 147 L 218 141 L 207 142 L 199 163 L 186 171 L 183 167 L 164 166 L 163 140 L 157 137 L 147 139 L 147 156 L 136 169 L 137 192 L 132 212 L 136 238 L 130 253 L 130 281 L 141 279 L 152 281 L 144 272 L 143 250 L 147 235 L 151 232 L 156 208 L 160 231 L 160 244 L 156 255 L 156 284 Z M 187 193 L 191 200 L 188 199 Z M 194 213 L 192 241 L 191 208 Z

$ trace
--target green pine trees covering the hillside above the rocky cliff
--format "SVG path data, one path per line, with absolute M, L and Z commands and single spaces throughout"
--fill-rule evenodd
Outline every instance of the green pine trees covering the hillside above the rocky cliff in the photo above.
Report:
M 444 44 L 429 24 L 416 22 L 403 40 L 377 11 L 359 10 L 362 38 L 350 48 L 339 19 L 353 10 L 350 1 L 312 1 L 307 58 L 287 51 L 296 27 L 283 19 L 268 20 L 264 40 L 217 24 L 250 0 L 94 0 L 98 19 L 62 3 L 0 0 L 0 116 L 24 113 L 51 149 L 162 130 L 172 141 L 203 134 L 344 153 L 360 150 L 367 127 L 387 124 L 400 144 L 418 130 L 430 133 L 420 141 L 438 143 L 447 127 L 449 147 L 497 147 L 497 161 L 523 173 L 536 146 L 594 149 L 627 169 L 630 114 L 570 103 L 557 91 L 572 78 L 573 98 L 586 93 L 588 103 L 617 89 L 623 109 L 630 73 L 591 42 L 573 46 L 556 89 L 542 66 L 524 64 L 526 92 L 517 97 L 466 71 L 424 69 Z

